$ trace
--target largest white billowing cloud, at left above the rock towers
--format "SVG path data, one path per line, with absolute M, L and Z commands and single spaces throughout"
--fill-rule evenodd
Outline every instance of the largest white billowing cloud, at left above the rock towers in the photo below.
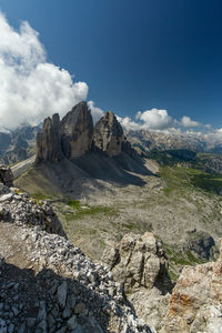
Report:
M 63 115 L 87 99 L 85 82 L 73 82 L 67 70 L 47 62 L 38 32 L 28 22 L 16 31 L 1 12 L 0 73 L 0 124 L 6 128 Z

